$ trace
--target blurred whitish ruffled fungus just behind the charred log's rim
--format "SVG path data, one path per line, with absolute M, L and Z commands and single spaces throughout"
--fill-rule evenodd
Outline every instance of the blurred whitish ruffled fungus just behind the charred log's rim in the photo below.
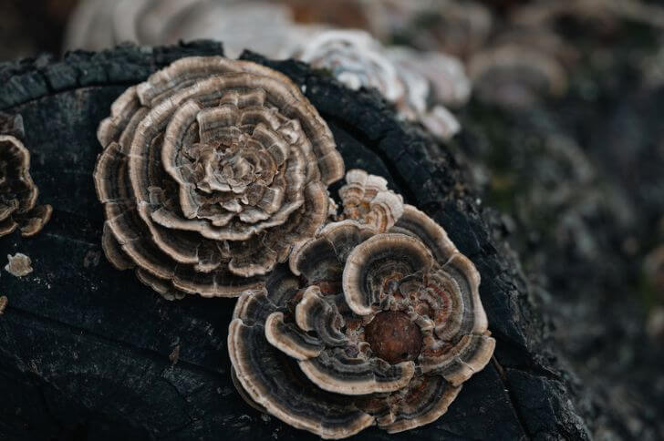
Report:
M 401 118 L 420 120 L 436 136 L 451 138 L 461 129 L 449 110 L 430 105 L 435 90 L 427 77 L 392 59 L 387 49 L 364 31 L 314 33 L 296 50 L 294 57 L 313 67 L 329 69 L 352 89 L 378 89 L 383 97 L 394 103 Z

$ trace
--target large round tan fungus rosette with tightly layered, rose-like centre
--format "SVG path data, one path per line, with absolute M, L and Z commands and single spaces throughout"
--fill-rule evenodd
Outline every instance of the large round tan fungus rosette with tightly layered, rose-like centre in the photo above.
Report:
M 130 87 L 98 138 L 104 251 L 166 298 L 262 286 L 325 222 L 327 185 L 344 172 L 287 77 L 221 56 L 182 58 Z

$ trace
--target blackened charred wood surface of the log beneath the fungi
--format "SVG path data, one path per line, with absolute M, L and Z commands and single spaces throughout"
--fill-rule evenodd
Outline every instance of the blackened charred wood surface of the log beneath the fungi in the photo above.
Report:
M 167 302 L 133 272 L 113 269 L 100 247 L 103 213 L 92 181 L 99 121 L 126 87 L 171 61 L 221 54 L 220 44 L 203 41 L 0 65 L 0 110 L 23 116 L 39 200 L 54 208 L 36 237 L 0 239 L 0 262 L 23 252 L 34 267 L 23 278 L 0 275 L 8 298 L 0 315 L 0 439 L 316 439 L 236 393 L 225 347 L 233 299 Z M 244 58 L 300 85 L 347 169 L 389 179 L 482 275 L 493 362 L 435 423 L 391 436 L 371 428 L 356 438 L 586 439 L 572 376 L 547 349 L 518 262 L 493 241 L 500 222 L 467 190 L 449 149 L 400 122 L 373 91 L 351 91 L 291 60 Z

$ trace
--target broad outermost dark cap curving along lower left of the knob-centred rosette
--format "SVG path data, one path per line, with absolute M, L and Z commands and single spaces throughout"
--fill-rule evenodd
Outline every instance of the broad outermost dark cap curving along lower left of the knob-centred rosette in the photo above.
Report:
M 285 423 L 324 438 L 352 436 L 374 418 L 344 395 L 313 387 L 296 359 L 265 338 L 265 321 L 296 292 L 297 278 L 283 266 L 273 272 L 267 290 L 247 291 L 238 299 L 229 327 L 228 349 L 243 395 Z

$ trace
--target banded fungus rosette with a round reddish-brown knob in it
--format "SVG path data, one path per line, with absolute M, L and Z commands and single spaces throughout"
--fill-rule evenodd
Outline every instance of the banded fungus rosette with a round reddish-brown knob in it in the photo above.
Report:
M 493 354 L 479 274 L 406 205 L 387 233 L 328 224 L 245 292 L 228 336 L 250 403 L 325 438 L 390 433 L 444 414 Z

